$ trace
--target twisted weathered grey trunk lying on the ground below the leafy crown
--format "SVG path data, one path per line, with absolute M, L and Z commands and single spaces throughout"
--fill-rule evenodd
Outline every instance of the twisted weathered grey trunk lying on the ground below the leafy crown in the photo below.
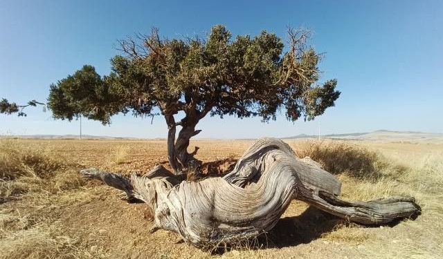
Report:
M 309 158 L 299 159 L 275 139 L 255 142 L 224 178 L 183 182 L 162 166 L 143 177 L 97 169 L 82 174 L 146 202 L 154 213 L 153 230 L 175 231 L 199 247 L 269 231 L 292 199 L 361 224 L 386 224 L 419 213 L 413 198 L 339 200 L 341 182 L 334 175 Z

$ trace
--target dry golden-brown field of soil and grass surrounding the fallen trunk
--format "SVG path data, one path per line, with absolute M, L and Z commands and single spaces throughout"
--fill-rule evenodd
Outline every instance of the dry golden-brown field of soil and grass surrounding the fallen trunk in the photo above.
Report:
M 204 169 L 222 173 L 251 140 L 197 140 Z M 293 201 L 277 226 L 237 250 L 201 251 L 152 225 L 143 204 L 80 178 L 100 167 L 167 165 L 164 140 L 0 140 L 0 258 L 443 258 L 443 144 L 287 141 L 343 182 L 344 198 L 412 195 L 416 220 L 361 227 Z

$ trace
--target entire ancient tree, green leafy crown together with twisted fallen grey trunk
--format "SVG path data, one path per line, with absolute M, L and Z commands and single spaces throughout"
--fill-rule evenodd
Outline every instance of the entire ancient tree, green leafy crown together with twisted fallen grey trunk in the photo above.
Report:
M 296 157 L 281 140 L 258 140 L 222 178 L 188 182 L 178 175 L 201 164 L 194 157 L 197 151 L 187 148 L 206 115 L 258 116 L 266 122 L 282 111 L 295 121 L 314 119 L 334 106 L 340 95 L 336 80 L 318 83 L 320 55 L 307 45 L 308 35 L 289 30 L 288 51 L 283 52 L 282 39 L 266 31 L 232 39 L 224 26 L 215 26 L 206 39 L 162 39 L 152 30 L 120 41 L 124 55 L 111 59 L 109 75 L 84 66 L 51 85 L 48 107 L 58 119 L 81 115 L 103 124 L 117 113 L 163 116 L 174 173 L 163 166 L 130 178 L 99 169 L 81 173 L 125 191 L 130 202 L 145 202 L 155 222 L 152 231 L 177 232 L 197 247 L 269 231 L 293 199 L 360 224 L 417 215 L 413 198 L 341 200 L 341 182 L 309 157 Z M 17 113 L 19 106 L 3 99 L 0 111 Z

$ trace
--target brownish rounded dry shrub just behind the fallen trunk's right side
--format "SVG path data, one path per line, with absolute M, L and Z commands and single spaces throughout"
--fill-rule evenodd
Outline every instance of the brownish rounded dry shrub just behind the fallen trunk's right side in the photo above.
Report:
M 347 172 L 359 178 L 377 175 L 377 153 L 349 142 L 305 142 L 296 148 L 296 153 L 298 157 L 311 157 L 330 173 Z

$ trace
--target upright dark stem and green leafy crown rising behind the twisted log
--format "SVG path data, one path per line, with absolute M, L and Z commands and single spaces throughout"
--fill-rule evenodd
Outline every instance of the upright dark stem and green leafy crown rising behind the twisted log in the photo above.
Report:
M 334 106 L 336 79 L 319 84 L 322 55 L 307 45 L 309 32 L 289 29 L 288 51 L 266 31 L 232 38 L 214 26 L 206 39 L 161 39 L 159 30 L 120 41 L 123 55 L 100 76 L 93 66 L 51 85 L 48 106 L 57 119 L 80 115 L 109 124 L 116 113 L 161 115 L 168 125 L 168 159 L 179 173 L 201 162 L 188 153 L 206 115 L 275 119 L 278 111 L 296 121 L 314 119 Z M 177 119 L 177 115 L 184 114 Z M 176 137 L 176 128 L 181 126 Z

